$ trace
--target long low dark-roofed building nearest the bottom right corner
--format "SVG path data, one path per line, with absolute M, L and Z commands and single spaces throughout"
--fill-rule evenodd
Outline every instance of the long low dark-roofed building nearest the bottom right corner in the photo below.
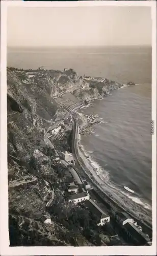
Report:
M 147 245 L 150 242 L 149 237 L 133 223 L 124 224 L 124 230 L 127 239 L 132 239 L 137 245 Z

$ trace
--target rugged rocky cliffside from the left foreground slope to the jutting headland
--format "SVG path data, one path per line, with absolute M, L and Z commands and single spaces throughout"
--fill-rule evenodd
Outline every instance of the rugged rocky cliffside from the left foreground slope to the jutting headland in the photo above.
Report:
M 73 216 L 77 211 L 73 211 L 74 206 L 69 206 L 65 200 L 65 187 L 62 184 L 65 168 L 54 166 L 53 159 L 57 157 L 57 152 L 53 144 L 47 142 L 46 134 L 48 135 L 49 129 L 53 129 L 60 120 L 63 122 L 66 119 L 66 127 L 68 122 L 70 123 L 67 111 L 61 109 L 55 100 L 63 92 L 71 90 L 73 100 L 77 97 L 81 101 L 90 101 L 120 87 L 120 84 L 113 81 L 102 78 L 99 80 L 81 78 L 72 69 L 7 69 L 11 246 L 93 245 L 82 237 L 79 226 L 76 226 L 79 231 L 72 233 L 75 225 L 72 228 L 71 224 L 69 225 L 67 212 L 68 218 L 71 218 L 70 223 L 73 223 Z M 65 126 L 60 131 L 61 135 L 63 133 L 60 140 L 62 149 L 71 146 L 70 130 Z M 53 209 L 47 208 L 49 202 Z M 59 205 L 62 210 L 58 208 Z M 45 225 L 42 217 L 48 210 L 52 223 Z M 89 213 L 87 216 L 92 222 Z

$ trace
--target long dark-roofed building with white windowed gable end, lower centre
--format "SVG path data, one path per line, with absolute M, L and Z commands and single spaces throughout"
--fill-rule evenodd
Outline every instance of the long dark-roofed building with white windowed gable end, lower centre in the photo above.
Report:
M 102 226 L 107 222 L 110 222 L 110 216 L 104 210 L 102 210 L 100 206 L 97 203 L 95 203 L 92 199 L 87 201 L 87 206 L 93 212 L 93 214 L 95 214 L 98 217 L 98 226 Z

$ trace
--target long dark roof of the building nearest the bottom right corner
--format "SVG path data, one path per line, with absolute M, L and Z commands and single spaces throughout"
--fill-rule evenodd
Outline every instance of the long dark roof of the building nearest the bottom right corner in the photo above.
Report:
M 126 223 L 124 225 L 125 229 L 132 234 L 133 238 L 138 240 L 143 245 L 149 242 L 149 238 L 143 233 L 138 227 L 136 227 L 133 223 Z

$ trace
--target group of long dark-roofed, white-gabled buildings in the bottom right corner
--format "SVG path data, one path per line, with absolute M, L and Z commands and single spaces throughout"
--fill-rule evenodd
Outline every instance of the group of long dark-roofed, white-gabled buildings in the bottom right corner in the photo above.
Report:
M 151 245 L 149 236 L 126 212 L 115 212 L 115 219 L 125 232 L 127 240 L 131 239 L 137 245 Z

